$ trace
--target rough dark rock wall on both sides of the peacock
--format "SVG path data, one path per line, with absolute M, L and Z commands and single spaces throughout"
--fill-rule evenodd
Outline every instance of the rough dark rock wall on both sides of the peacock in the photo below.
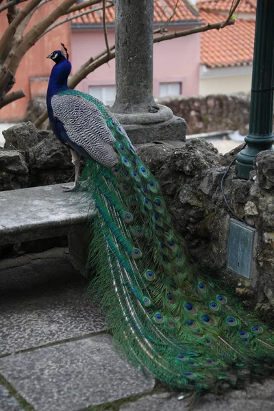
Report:
M 73 179 L 69 149 L 50 132 L 25 123 L 9 129 L 5 138 L 9 149 L 0 150 L 0 190 Z M 221 195 L 223 174 L 241 146 L 225 155 L 203 139 L 147 143 L 136 149 L 158 178 L 192 256 L 208 271 L 236 278 L 245 303 L 274 308 L 274 153 L 257 156 L 251 179 L 238 179 L 234 166 L 225 179 L 234 212 L 256 227 L 254 271 L 248 281 L 226 269 L 230 214 Z

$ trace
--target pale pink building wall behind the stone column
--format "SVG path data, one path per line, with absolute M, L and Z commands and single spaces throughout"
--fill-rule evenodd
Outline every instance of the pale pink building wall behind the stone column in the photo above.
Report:
M 189 28 L 189 27 L 188 27 Z M 177 32 L 180 30 L 177 27 Z M 169 29 L 169 34 L 174 32 Z M 114 29 L 108 29 L 110 46 L 114 44 Z M 71 33 L 73 73 L 90 56 L 105 49 L 102 30 L 73 30 Z M 200 35 L 175 38 L 154 45 L 153 94 L 159 95 L 161 82 L 182 82 L 182 94 L 199 94 Z M 115 61 L 90 73 L 77 89 L 88 92 L 89 86 L 110 86 L 115 84 Z

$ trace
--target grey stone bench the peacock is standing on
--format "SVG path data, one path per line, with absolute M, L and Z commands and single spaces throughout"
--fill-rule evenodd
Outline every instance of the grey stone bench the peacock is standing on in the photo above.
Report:
M 0 192 L 0 246 L 68 236 L 71 262 L 86 275 L 87 217 L 96 214 L 81 192 L 61 184 Z

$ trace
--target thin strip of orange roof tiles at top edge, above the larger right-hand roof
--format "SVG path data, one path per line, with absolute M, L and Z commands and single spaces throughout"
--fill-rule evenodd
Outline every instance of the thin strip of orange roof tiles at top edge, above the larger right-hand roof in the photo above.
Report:
M 241 0 L 237 9 L 240 13 L 256 13 L 257 0 Z M 229 12 L 232 0 L 197 0 L 199 10 L 208 10 L 213 12 Z

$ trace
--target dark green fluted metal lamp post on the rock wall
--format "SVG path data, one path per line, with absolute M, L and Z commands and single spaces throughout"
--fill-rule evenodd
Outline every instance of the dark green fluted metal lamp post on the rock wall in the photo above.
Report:
M 274 1 L 258 0 L 247 147 L 236 157 L 237 175 L 249 179 L 253 160 L 273 151 Z

